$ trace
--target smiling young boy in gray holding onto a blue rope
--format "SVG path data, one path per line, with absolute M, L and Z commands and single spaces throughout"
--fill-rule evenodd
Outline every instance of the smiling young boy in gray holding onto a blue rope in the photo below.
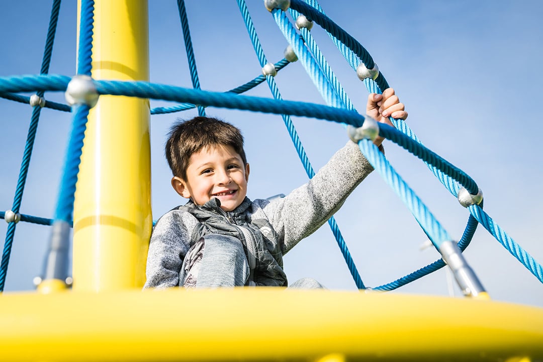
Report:
M 392 88 L 369 95 L 367 114 L 387 124 L 390 116 L 407 117 Z M 382 141 L 374 143 L 381 147 Z M 358 145 L 349 141 L 284 198 L 251 201 L 241 133 L 206 117 L 175 124 L 166 157 L 173 188 L 190 200 L 157 222 L 144 288 L 286 286 L 283 255 L 323 225 L 373 170 Z M 291 287 L 321 285 L 304 278 Z

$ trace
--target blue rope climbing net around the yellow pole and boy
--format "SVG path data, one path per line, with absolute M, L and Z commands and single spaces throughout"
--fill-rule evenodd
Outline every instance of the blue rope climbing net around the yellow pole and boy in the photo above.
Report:
M 78 79 L 86 79 L 88 81 L 87 84 L 93 88 L 96 98 L 98 98 L 98 96 L 112 95 L 176 103 L 173 106 L 153 107 L 150 110 L 151 115 L 181 112 L 191 109 L 197 109 L 199 115 L 205 115 L 206 107 L 210 106 L 280 115 L 285 123 L 287 132 L 291 137 L 302 166 L 304 167 L 307 176 L 310 178 L 313 177 L 315 172 L 309 157 L 302 146 L 300 136 L 294 128 L 292 116 L 328 120 L 342 124 L 345 128 L 348 125 L 356 128 L 364 125 L 366 121 L 364 116 L 355 109 L 353 102 L 342 88 L 342 85 L 332 71 L 329 63 L 327 63 L 317 42 L 311 34 L 311 26 L 319 26 L 326 31 L 353 71 L 357 72 L 360 69 L 372 71 L 377 69 L 376 64 L 368 51 L 356 39 L 327 17 L 316 1 L 306 0 L 304 2 L 302 0 L 291 0 L 290 2 L 284 2 L 289 3 L 289 7 L 285 7 L 285 9 L 269 9 L 270 16 L 276 22 L 277 27 L 285 36 L 286 43 L 288 44 L 285 58 L 270 63 L 264 54 L 247 4 L 244 0 L 237 0 L 239 11 L 245 27 L 247 28 L 252 46 L 254 47 L 257 61 L 264 69 L 265 75 L 257 75 L 254 79 L 224 92 L 211 92 L 201 89 L 197 71 L 197 57 L 195 56 L 192 45 L 189 18 L 186 13 L 184 1 L 178 0 L 177 3 L 182 37 L 185 43 L 190 68 L 192 88 L 146 81 L 94 80 L 91 78 L 84 78 L 85 76 L 90 77 L 92 70 L 91 57 L 94 2 L 89 0 L 83 0 L 81 2 L 78 68 L 76 77 L 71 78 L 66 75 L 48 74 L 60 8 L 60 0 L 55 0 L 53 1 L 40 74 L 14 75 L 11 77 L 0 78 L 0 97 L 33 105 L 33 113 L 31 116 L 26 148 L 23 154 L 21 171 L 14 195 L 14 202 L 11 208 L 4 208 L 7 211 L 0 211 L 0 218 L 4 218 L 9 224 L 5 237 L 2 263 L 0 266 L 0 290 L 4 289 L 11 247 L 14 243 L 16 225 L 19 221 L 52 225 L 52 240 L 55 240 L 54 243 L 61 245 L 58 250 L 66 251 L 62 255 L 62 258 L 68 258 L 67 250 L 70 240 L 69 231 L 66 232 L 66 230 L 67 228 L 69 229 L 73 223 L 75 184 L 78 180 L 81 148 L 84 144 L 87 116 L 96 99 L 91 100 L 92 94 L 90 98 L 89 94 L 86 94 L 84 98 L 75 100 L 75 103 L 71 106 L 69 104 L 46 100 L 44 96 L 46 92 L 65 92 L 68 88 L 68 84 L 77 77 L 79 77 Z M 279 86 L 274 77 L 277 72 L 280 72 L 294 61 L 301 63 L 326 105 L 283 100 Z M 355 72 L 352 73 L 353 76 L 356 74 Z M 371 74 L 371 72 L 369 74 Z M 373 73 L 373 75 L 375 76 L 362 79 L 368 92 L 381 93 L 384 89 L 389 87 L 382 72 L 377 71 L 377 73 Z M 271 98 L 244 96 L 242 94 L 252 90 L 263 82 L 267 83 Z M 35 92 L 35 96 L 27 97 L 18 94 L 24 92 Z M 43 107 L 57 111 L 72 112 L 73 114 L 70 141 L 66 151 L 66 162 L 62 172 L 58 201 L 52 219 L 21 213 L 21 200 L 30 165 L 34 139 L 36 137 L 37 124 Z M 426 148 L 414 132 L 407 126 L 404 120 L 391 118 L 391 121 L 394 124 L 394 127 L 380 125 L 379 134 L 381 136 L 420 158 L 454 198 L 460 197 L 461 199 L 463 195 L 469 195 L 469 197 L 475 198 L 479 192 L 479 187 L 468 174 L 446 161 L 432 150 Z M 416 222 L 420 225 L 428 239 L 431 240 L 435 248 L 440 250 L 444 243 L 451 242 L 453 238 L 450 236 L 450 233 L 439 223 L 430 209 L 428 209 L 411 187 L 407 185 L 387 158 L 374 144 L 372 144 L 371 140 L 360 139 L 358 145 L 361 152 L 368 158 L 377 173 L 381 175 L 383 180 L 406 205 L 409 212 L 412 213 Z M 505 247 L 540 282 L 543 283 L 543 268 L 541 264 L 536 262 L 529 253 L 523 250 L 522 247 L 520 247 L 493 219 L 490 218 L 483 210 L 482 199 L 469 203 L 466 205 L 466 208 L 469 215 L 464 233 L 458 240 L 458 247 L 460 250 L 463 251 L 468 247 L 478 224 L 481 224 L 498 243 Z M 350 274 L 353 277 L 357 288 L 367 289 L 368 287 L 362 281 L 362 277 L 355 266 L 348 246 L 339 230 L 336 219 L 332 217 L 329 220 L 329 226 L 336 238 L 336 242 L 348 265 Z M 48 275 L 43 275 L 42 277 L 66 280 L 66 278 L 68 278 L 68 261 L 65 260 L 58 263 L 60 263 L 60 266 L 57 264 L 54 268 L 46 266 L 44 268 L 46 270 L 44 274 Z M 443 258 L 439 258 L 437 261 L 424 266 L 411 274 L 397 278 L 387 284 L 371 287 L 371 289 L 393 290 L 443 268 L 445 265 Z

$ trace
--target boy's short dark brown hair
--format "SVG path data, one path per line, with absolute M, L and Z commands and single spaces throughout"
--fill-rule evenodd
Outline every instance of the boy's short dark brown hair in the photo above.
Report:
M 210 117 L 178 120 L 170 128 L 166 141 L 166 159 L 173 175 L 186 180 L 191 156 L 203 148 L 217 145 L 232 147 L 241 157 L 243 164 L 247 164 L 243 136 L 237 127 Z

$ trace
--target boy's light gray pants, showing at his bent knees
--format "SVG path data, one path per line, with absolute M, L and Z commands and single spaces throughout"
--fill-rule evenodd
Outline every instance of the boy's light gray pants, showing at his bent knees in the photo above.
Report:
M 249 279 L 249 263 L 239 239 L 208 234 L 188 251 L 180 271 L 185 288 L 241 287 Z M 324 288 L 312 278 L 301 278 L 289 288 Z

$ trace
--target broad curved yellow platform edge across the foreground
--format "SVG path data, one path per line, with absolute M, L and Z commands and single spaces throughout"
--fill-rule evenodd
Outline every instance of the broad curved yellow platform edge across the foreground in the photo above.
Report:
M 0 296 L 9 361 L 543 360 L 543 308 L 245 288 Z

